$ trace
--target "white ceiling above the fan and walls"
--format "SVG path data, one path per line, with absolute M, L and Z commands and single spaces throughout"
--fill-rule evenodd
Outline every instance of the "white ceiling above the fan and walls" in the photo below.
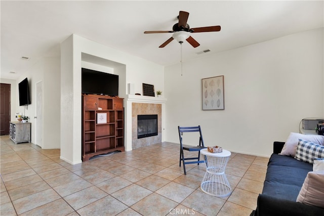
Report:
M 158 48 L 172 33 L 143 33 L 172 30 L 179 11 L 190 13 L 191 28 L 221 26 L 192 33 L 200 46 L 185 42 L 184 62 L 324 26 L 323 1 L 1 1 L 1 77 L 16 79 L 40 58 L 59 56 L 72 33 L 160 65 L 179 63 L 176 40 Z

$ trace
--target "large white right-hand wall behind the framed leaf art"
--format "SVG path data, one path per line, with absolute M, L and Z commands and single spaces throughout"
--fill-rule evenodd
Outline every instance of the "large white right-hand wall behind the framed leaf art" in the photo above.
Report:
M 165 68 L 166 140 L 200 124 L 207 146 L 270 156 L 273 141 L 324 116 L 323 28 Z M 201 109 L 201 78 L 224 75 L 225 110 Z M 192 143 L 195 144 L 195 143 Z

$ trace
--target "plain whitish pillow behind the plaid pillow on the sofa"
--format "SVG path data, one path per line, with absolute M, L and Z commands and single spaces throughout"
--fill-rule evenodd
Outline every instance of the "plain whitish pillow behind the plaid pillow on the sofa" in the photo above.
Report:
M 299 139 L 324 146 L 324 136 L 290 133 L 280 154 L 295 157 Z

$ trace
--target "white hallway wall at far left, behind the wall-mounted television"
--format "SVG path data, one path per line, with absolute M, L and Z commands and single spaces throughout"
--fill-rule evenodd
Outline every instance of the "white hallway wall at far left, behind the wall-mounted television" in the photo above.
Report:
M 31 104 L 28 107 L 19 106 L 18 83 L 28 78 Z M 8 83 L 8 79 L 1 79 Z M 43 81 L 43 143 L 35 142 L 35 87 L 38 81 Z M 60 60 L 57 57 L 40 59 L 31 68 L 27 68 L 17 80 L 10 80 L 11 85 L 11 120 L 17 121 L 17 112 L 28 116 L 31 122 L 31 142 L 43 149 L 60 148 Z M 53 120 L 54 119 L 54 120 Z

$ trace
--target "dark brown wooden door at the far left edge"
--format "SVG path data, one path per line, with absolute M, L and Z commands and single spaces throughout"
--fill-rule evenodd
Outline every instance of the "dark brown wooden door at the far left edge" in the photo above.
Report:
M 9 134 L 10 121 L 10 84 L 1 83 L 0 86 L 0 135 Z

